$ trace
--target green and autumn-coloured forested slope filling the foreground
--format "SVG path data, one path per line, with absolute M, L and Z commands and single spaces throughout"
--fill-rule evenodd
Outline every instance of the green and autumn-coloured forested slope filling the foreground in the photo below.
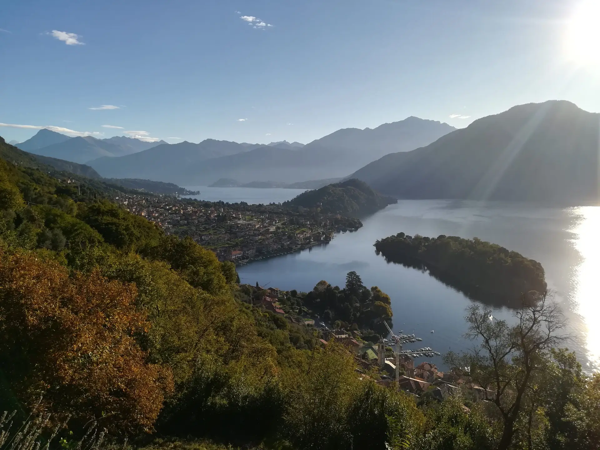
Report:
M 0 142 L 0 151 L 12 150 Z M 322 346 L 307 326 L 253 306 L 233 263 L 94 185 L 75 189 L 24 162 L 0 160 L 0 407 L 16 411 L 0 419 L 3 450 L 209 448 L 196 439 L 282 450 L 598 448 L 600 377 L 550 350 L 557 341 L 500 361 L 497 401 L 460 389 L 441 403 L 415 398 L 359 370 L 335 340 Z M 365 326 L 370 311 L 389 310 L 355 277 L 343 292 L 320 284 L 311 305 L 320 293 L 335 316 Z M 491 326 L 521 349 L 518 329 Z M 532 329 L 526 343 L 537 342 Z M 453 367 L 481 383 L 486 364 Z M 523 400 L 506 410 L 514 393 Z

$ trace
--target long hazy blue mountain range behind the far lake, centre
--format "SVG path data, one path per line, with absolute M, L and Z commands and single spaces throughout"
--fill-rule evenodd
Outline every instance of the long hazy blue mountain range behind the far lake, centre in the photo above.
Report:
M 261 145 L 206 139 L 198 144 L 159 145 L 88 164 L 107 178 L 148 178 L 186 185 L 208 185 L 220 178 L 240 183 L 293 183 L 341 178 L 385 154 L 427 145 L 453 130 L 448 124 L 409 117 L 373 130 L 345 128 L 305 146 L 285 141 Z

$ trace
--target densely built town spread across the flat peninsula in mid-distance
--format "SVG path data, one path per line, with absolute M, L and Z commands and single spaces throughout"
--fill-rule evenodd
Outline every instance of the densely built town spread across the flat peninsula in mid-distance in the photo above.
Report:
M 158 224 L 167 234 L 190 236 L 214 251 L 220 261 L 236 264 L 326 244 L 335 233 L 358 230 L 356 218 L 319 214 L 280 204 L 204 202 L 170 196 L 121 194 L 115 197 L 133 214 Z

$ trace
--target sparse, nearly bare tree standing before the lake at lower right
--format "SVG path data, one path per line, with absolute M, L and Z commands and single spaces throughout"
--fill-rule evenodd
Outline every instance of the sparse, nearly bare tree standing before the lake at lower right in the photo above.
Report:
M 479 305 L 467 308 L 469 330 L 465 336 L 478 340 L 479 346 L 462 356 L 448 353 L 446 362 L 470 381 L 485 389 L 503 422 L 499 450 L 511 445 L 527 392 L 544 367 L 551 349 L 565 340 L 557 335 L 565 326 L 559 307 L 540 295 L 533 304 L 515 311 L 516 323 L 490 318 L 491 310 Z

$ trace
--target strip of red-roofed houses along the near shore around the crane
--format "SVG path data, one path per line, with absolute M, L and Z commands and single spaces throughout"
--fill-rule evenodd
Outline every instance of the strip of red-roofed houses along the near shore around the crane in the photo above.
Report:
M 327 346 L 333 340 L 346 346 L 355 359 L 360 377 L 371 377 L 377 384 L 388 388 L 397 383 L 398 389 L 414 395 L 417 401 L 420 398 L 443 401 L 448 395 L 459 393 L 472 400 L 494 398 L 494 392 L 489 389 L 485 392 L 484 388 L 467 383 L 461 374 L 439 371 L 435 364 L 426 361 L 415 365 L 415 359 L 411 356 L 398 355 L 396 370 L 394 350 L 381 338 L 371 342 L 368 335 L 363 339 L 360 330 L 342 329 L 339 322 L 323 322 L 319 314 L 303 305 L 306 293 L 283 291 L 276 287 L 264 288 L 258 284 L 242 284 L 240 287 L 246 293 L 244 301 L 251 302 L 268 314 L 286 319 L 290 335 L 294 334 L 293 328 L 296 328 L 303 334 L 313 335 L 316 346 Z

